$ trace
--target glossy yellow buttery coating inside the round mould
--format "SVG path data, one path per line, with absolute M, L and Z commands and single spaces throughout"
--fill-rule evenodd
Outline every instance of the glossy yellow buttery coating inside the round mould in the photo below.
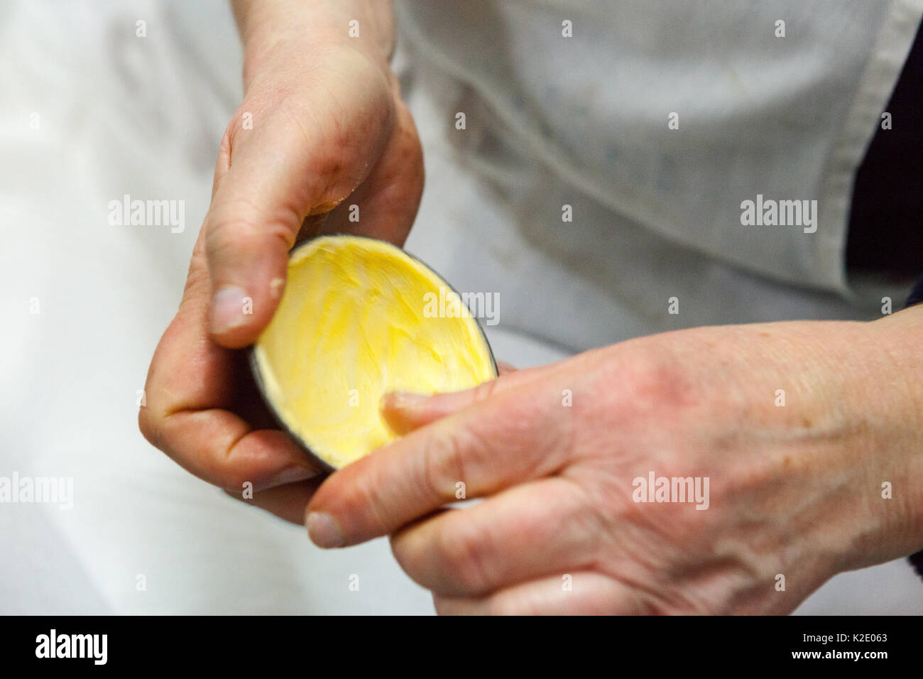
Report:
M 477 321 L 432 303 L 440 288 L 443 299 L 453 295 L 382 241 L 321 236 L 294 251 L 257 366 L 276 413 L 330 466 L 395 438 L 378 408 L 383 394 L 452 392 L 496 377 Z

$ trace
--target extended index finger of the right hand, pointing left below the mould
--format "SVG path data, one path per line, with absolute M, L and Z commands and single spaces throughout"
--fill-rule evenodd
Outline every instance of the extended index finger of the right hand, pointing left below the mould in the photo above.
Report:
M 574 436 L 561 413 L 570 408 L 560 406 L 568 376 L 498 390 L 336 472 L 309 506 L 311 539 L 321 547 L 370 540 L 454 502 L 460 483 L 479 497 L 554 473 Z

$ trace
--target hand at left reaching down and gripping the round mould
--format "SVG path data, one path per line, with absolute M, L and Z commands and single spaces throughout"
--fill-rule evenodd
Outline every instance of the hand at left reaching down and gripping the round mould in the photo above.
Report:
M 402 245 L 413 223 L 422 154 L 388 67 L 383 8 L 238 4 L 246 97 L 222 139 L 186 291 L 139 413 L 145 437 L 187 470 L 238 498 L 251 482 L 253 503 L 297 523 L 318 469 L 275 428 L 230 349 L 269 323 L 296 238 L 348 232 Z M 360 38 L 349 37 L 353 18 Z

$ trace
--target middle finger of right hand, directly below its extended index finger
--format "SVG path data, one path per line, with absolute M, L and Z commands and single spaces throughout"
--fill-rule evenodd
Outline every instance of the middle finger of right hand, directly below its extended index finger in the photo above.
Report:
M 592 566 L 603 529 L 596 516 L 575 483 L 543 479 L 404 527 L 391 538 L 391 550 L 423 587 L 478 597 Z

